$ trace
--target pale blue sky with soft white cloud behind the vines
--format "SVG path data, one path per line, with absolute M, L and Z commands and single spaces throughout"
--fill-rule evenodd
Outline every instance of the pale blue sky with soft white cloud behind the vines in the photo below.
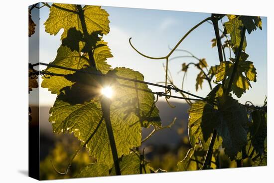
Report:
M 173 47 L 178 40 L 195 24 L 210 16 L 209 13 L 167 11 L 139 8 L 120 8 L 102 6 L 110 14 L 110 33 L 104 36 L 111 48 L 113 58 L 108 59 L 112 67 L 124 66 L 141 72 L 145 81 L 164 81 L 163 63 L 165 60 L 150 60 L 135 52 L 129 38 L 135 47 L 149 56 L 165 56 L 169 52 L 168 45 Z M 40 9 L 40 61 L 51 62 L 56 57 L 57 49 L 61 44 L 60 35 L 49 35 L 45 32 L 43 23 L 47 19 L 49 9 Z M 263 30 L 258 29 L 247 34 L 246 52 L 250 55 L 248 60 L 253 61 L 257 68 L 257 82 L 251 82 L 252 88 L 248 90 L 239 101 L 249 100 L 261 105 L 267 95 L 267 18 L 262 17 Z M 224 21 L 226 21 L 224 19 Z M 195 29 L 178 47 L 191 51 L 198 58 L 206 58 L 209 65 L 219 63 L 217 48 L 211 48 L 211 39 L 215 37 L 213 26 L 204 23 Z M 31 38 L 30 38 L 31 39 Z M 175 51 L 170 58 L 186 55 Z M 228 57 L 228 52 L 227 52 Z M 30 54 L 30 59 L 32 58 Z M 179 72 L 183 62 L 195 61 L 192 58 L 174 59 L 169 62 L 174 83 L 181 86 L 183 72 Z M 41 67 L 41 69 L 44 67 Z M 179 72 L 179 73 L 178 73 Z M 203 90 L 195 90 L 197 69 L 190 68 L 184 84 L 184 90 L 206 96 L 210 91 L 204 81 Z M 160 88 L 150 87 L 153 91 L 163 91 Z M 176 95 L 175 93 L 173 93 Z M 40 89 L 40 101 L 43 105 L 52 105 L 56 95 L 50 94 L 47 89 Z M 235 98 L 237 98 L 235 96 Z M 178 101 L 178 100 L 177 100 Z M 171 100 L 172 102 L 172 100 Z

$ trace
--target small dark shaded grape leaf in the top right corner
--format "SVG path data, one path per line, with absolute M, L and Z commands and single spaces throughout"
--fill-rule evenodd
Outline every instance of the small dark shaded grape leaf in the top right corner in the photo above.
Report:
M 242 20 L 243 24 L 246 26 L 248 33 L 257 30 L 259 27 L 262 30 L 262 19 L 260 16 L 239 16 L 239 20 Z

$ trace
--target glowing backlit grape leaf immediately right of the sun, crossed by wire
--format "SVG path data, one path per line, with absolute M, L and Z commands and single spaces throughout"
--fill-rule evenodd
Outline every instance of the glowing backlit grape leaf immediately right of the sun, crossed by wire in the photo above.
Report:
M 144 79 L 141 73 L 125 67 L 117 67 L 109 71 L 108 75 L 141 81 Z M 126 113 L 135 113 L 138 117 L 136 123 L 140 123 L 142 127 L 161 127 L 159 110 L 154 103 L 155 97 L 146 84 L 123 79 L 116 79 L 112 84 L 117 108 L 126 109 Z

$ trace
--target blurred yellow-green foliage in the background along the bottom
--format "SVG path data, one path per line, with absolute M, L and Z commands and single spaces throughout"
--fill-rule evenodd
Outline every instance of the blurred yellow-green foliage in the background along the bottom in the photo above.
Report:
M 180 127 L 176 129 L 176 133 L 181 137 L 179 143 L 175 146 L 168 144 L 146 144 L 144 148 L 145 159 L 150 162 L 150 166 L 157 169 L 162 169 L 167 172 L 178 171 L 177 163 L 184 159 L 191 145 L 188 141 L 188 136 L 184 133 L 185 129 Z M 54 145 L 54 146 L 53 146 Z M 73 137 L 73 134 L 58 135 L 54 140 L 53 145 L 49 148 L 46 156 L 40 161 L 40 176 L 42 180 L 53 179 L 68 179 L 75 177 L 81 170 L 90 163 L 96 162 L 96 159 L 89 157 L 84 148 L 78 153 L 73 160 L 73 163 L 67 175 L 58 174 L 52 167 L 51 160 L 59 172 L 65 172 L 68 162 L 79 148 L 80 142 Z M 142 149 L 140 149 L 142 151 Z M 236 168 L 236 162 L 230 161 L 221 149 L 218 156 L 220 168 Z M 245 159 L 244 167 L 252 165 L 250 159 Z M 212 165 L 213 168 L 216 166 Z

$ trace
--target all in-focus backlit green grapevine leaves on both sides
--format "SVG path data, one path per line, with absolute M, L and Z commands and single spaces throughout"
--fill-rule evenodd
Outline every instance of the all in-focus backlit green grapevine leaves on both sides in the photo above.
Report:
M 125 67 L 112 68 L 107 62 L 113 57 L 103 39 L 111 31 L 108 12 L 93 5 L 44 3 L 44 6 L 50 8 L 44 22 L 45 31 L 56 35 L 63 29 L 61 45 L 50 63 L 60 67 L 48 66 L 43 70 L 45 74 L 41 82 L 41 87 L 57 94 L 49 111 L 49 122 L 53 133 L 73 133 L 89 156 L 95 159 L 79 170 L 76 177 L 117 175 L 117 165 L 121 175 L 164 172 L 151 168 L 139 152 L 142 128 L 162 128 L 154 94 L 147 84 L 134 81 L 144 81 L 140 72 Z M 214 24 L 224 16 L 213 14 L 209 19 Z M 186 99 L 191 105 L 188 135 L 192 147 L 178 162 L 178 171 L 220 168 L 217 161 L 221 149 L 231 160 L 241 162 L 248 158 L 253 166 L 267 165 L 267 102 L 263 107 L 241 104 L 230 93 L 240 98 L 251 83 L 256 82 L 256 68 L 252 61 L 247 60 L 249 55 L 245 52 L 245 31 L 252 33 L 257 28 L 262 29 L 262 20 L 259 16 L 226 16 L 228 21 L 223 24 L 224 31 L 212 39 L 212 47 L 221 46 L 223 53 L 218 50 L 219 55 L 225 53 L 224 49 L 229 49 L 235 57 L 220 58 L 215 66 L 209 66 L 205 58 L 197 57 L 198 63 L 182 64 L 185 73 L 190 64 L 200 70 L 196 90 L 202 89 L 205 80 L 212 90 L 204 99 L 194 103 Z M 35 25 L 29 9 L 29 36 L 34 34 Z M 31 91 L 38 87 L 37 71 L 31 65 L 29 74 Z M 115 150 L 108 131 L 106 109 L 102 106 L 104 96 L 101 90 L 104 87 L 111 87 L 114 93 L 109 99 L 109 119 Z M 118 164 L 114 151 L 119 158 Z M 208 158 L 209 164 L 206 163 Z

